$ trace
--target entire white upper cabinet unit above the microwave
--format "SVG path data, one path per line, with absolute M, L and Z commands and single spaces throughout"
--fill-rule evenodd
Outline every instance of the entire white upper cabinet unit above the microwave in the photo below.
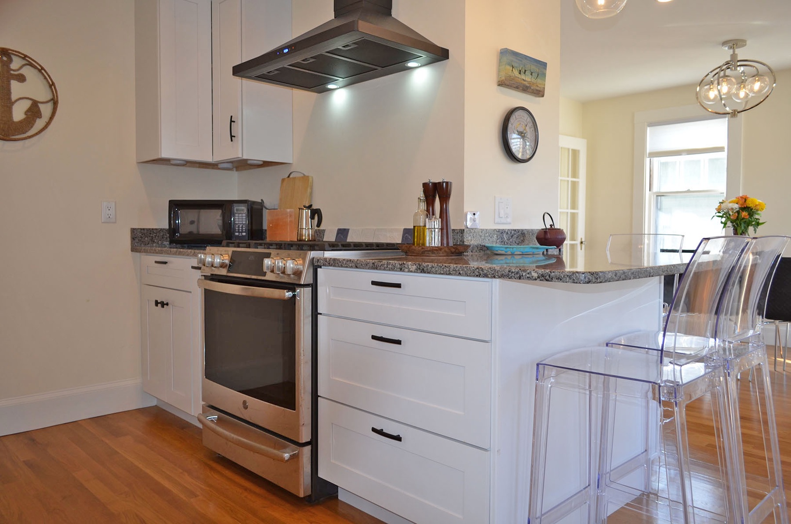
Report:
M 135 1 L 138 162 L 248 169 L 293 160 L 291 90 L 232 72 L 243 58 L 290 40 L 290 6 Z

